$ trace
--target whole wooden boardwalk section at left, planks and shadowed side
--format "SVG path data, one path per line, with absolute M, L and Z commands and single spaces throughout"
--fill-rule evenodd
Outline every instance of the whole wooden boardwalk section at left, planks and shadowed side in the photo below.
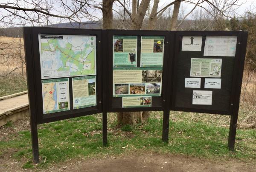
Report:
M 28 116 L 28 109 L 27 91 L 0 97 L 0 126 L 6 124 L 7 121 L 16 121 Z

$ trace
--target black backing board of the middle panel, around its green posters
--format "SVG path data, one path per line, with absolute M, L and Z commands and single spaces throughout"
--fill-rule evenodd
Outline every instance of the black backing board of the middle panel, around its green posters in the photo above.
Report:
M 164 36 L 164 56 L 163 56 L 163 71 L 162 71 L 162 94 L 161 96 L 152 96 L 151 107 L 133 107 L 133 108 L 122 108 L 122 97 L 113 97 L 113 36 L 137 36 L 137 68 L 140 67 L 140 44 L 141 36 Z M 154 111 L 164 110 L 168 103 L 168 75 L 169 65 L 172 63 L 170 60 L 170 49 L 173 48 L 174 32 L 170 31 L 132 31 L 132 30 L 109 30 L 108 40 L 106 40 L 106 47 L 108 48 L 108 56 L 104 61 L 103 59 L 103 70 L 108 71 L 104 78 L 107 79 L 107 109 L 108 112 L 126 112 L 126 111 Z M 105 69 L 105 68 L 106 69 Z

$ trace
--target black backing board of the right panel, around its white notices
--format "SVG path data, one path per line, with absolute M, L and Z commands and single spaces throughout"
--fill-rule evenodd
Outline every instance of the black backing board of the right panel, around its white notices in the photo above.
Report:
M 175 55 L 172 81 L 172 110 L 189 111 L 199 113 L 215 113 L 232 115 L 233 102 L 240 95 L 240 90 L 236 90 L 238 65 L 243 61 L 241 56 L 240 43 L 241 32 L 225 31 L 177 31 L 175 35 Z M 201 51 L 182 51 L 183 36 L 202 36 Z M 204 45 L 206 36 L 236 36 L 236 55 L 235 56 L 204 56 Z M 244 42 L 243 42 L 244 43 Z M 246 45 L 246 42 L 243 44 Z M 209 77 L 201 78 L 200 88 L 185 87 L 185 78 L 194 78 L 190 76 L 190 66 L 192 58 L 204 59 L 222 59 L 221 65 L 221 89 L 204 88 L 204 82 Z M 217 78 L 217 77 L 216 77 Z M 193 90 L 212 91 L 212 105 L 192 104 Z

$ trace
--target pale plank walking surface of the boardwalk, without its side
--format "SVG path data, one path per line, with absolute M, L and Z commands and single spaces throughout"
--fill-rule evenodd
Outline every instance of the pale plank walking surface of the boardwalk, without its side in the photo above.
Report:
M 24 104 L 28 104 L 28 94 L 23 94 L 15 97 L 11 97 L 9 99 L 0 100 L 0 114 L 8 112 L 16 107 L 23 106 Z

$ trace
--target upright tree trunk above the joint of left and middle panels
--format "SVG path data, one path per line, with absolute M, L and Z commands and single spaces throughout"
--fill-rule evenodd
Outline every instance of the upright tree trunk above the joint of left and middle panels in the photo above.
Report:
M 114 0 L 102 1 L 103 29 L 111 29 L 113 24 L 113 2 Z

